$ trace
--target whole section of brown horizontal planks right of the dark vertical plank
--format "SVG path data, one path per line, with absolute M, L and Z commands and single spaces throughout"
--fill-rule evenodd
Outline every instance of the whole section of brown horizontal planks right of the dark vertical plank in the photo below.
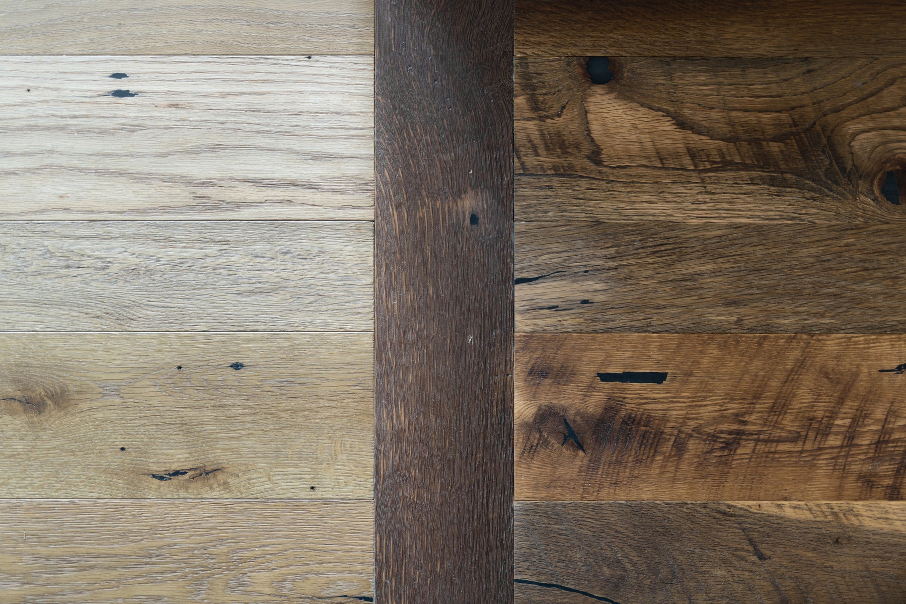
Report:
M 516 3 L 517 604 L 906 601 L 904 20 Z

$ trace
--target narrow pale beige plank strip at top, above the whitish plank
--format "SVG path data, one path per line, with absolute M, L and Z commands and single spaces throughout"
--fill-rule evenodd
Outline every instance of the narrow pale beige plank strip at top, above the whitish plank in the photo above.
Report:
M 371 0 L 0 0 L 2 54 L 371 54 Z

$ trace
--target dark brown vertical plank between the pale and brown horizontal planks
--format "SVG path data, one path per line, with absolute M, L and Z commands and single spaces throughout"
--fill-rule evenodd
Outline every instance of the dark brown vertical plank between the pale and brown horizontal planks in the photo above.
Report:
M 512 10 L 375 5 L 381 604 L 513 599 Z

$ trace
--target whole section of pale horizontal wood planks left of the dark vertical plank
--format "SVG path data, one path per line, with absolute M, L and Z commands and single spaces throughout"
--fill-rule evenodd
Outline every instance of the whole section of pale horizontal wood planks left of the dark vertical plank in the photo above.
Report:
M 0 14 L 0 602 L 371 601 L 371 2 Z

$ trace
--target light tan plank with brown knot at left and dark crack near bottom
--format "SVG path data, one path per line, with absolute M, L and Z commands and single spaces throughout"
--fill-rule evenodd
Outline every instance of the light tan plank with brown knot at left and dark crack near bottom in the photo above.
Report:
M 0 335 L 6 497 L 371 497 L 370 333 Z

